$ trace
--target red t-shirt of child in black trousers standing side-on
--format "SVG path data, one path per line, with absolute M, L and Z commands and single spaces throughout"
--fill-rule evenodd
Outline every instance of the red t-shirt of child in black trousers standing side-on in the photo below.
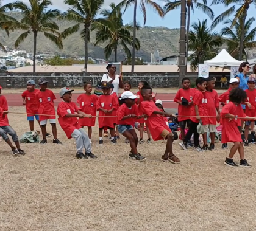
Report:
M 201 91 L 195 89 L 194 90 L 194 94 L 193 94 L 193 102 L 194 105 L 191 108 L 191 116 L 196 116 L 196 109 L 194 108 L 196 105 L 198 106 L 198 112 L 199 112 L 199 116 L 204 116 L 205 114 L 205 106 L 204 106 L 204 94 L 202 94 Z M 198 123 L 199 120 L 196 119 L 196 117 L 190 117 L 190 119 L 194 122 L 194 123 Z M 205 119 L 201 117 L 202 120 L 202 124 L 205 125 Z

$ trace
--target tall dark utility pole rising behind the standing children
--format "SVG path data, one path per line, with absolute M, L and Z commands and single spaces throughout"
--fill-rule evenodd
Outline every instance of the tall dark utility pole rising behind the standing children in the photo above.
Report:
M 180 13 L 180 50 L 179 50 L 179 87 L 182 86 L 182 78 L 186 74 L 186 0 L 181 0 Z

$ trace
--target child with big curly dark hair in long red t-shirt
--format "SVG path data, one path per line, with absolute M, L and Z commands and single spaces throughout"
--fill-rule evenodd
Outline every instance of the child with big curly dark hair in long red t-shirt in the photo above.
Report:
M 229 157 L 226 158 L 225 164 L 230 167 L 237 167 L 238 165 L 233 162 L 233 156 L 236 151 L 240 155 L 240 166 L 241 167 L 251 167 L 244 159 L 244 147 L 241 138 L 240 131 L 238 129 L 238 117 L 243 117 L 246 120 L 256 120 L 256 117 L 247 117 L 243 112 L 241 103 L 246 101 L 246 92 L 241 88 L 233 89 L 229 95 L 229 103 L 222 108 L 221 117 L 225 117 L 222 120 L 222 143 L 234 143 L 233 147 L 230 149 Z

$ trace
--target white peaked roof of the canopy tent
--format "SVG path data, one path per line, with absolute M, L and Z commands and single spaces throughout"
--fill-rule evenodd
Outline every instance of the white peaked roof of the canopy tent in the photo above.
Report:
M 242 61 L 233 58 L 226 49 L 222 49 L 212 60 L 205 60 L 209 66 L 240 66 Z

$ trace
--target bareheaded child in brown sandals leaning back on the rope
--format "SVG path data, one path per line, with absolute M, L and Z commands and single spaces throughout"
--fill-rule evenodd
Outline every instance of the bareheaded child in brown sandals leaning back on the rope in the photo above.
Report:
M 173 164 L 179 164 L 179 158 L 172 152 L 174 136 L 162 117 L 172 115 L 167 112 L 160 111 L 160 109 L 155 106 L 155 102 L 152 100 L 153 95 L 152 88 L 150 86 L 143 86 L 143 88 L 141 88 L 141 94 L 143 95 L 143 102 L 141 102 L 140 105 L 141 111 L 144 115 L 148 116 L 146 118 L 146 125 L 151 132 L 153 140 L 167 140 L 165 154 L 163 154 L 161 160 L 168 160 Z

